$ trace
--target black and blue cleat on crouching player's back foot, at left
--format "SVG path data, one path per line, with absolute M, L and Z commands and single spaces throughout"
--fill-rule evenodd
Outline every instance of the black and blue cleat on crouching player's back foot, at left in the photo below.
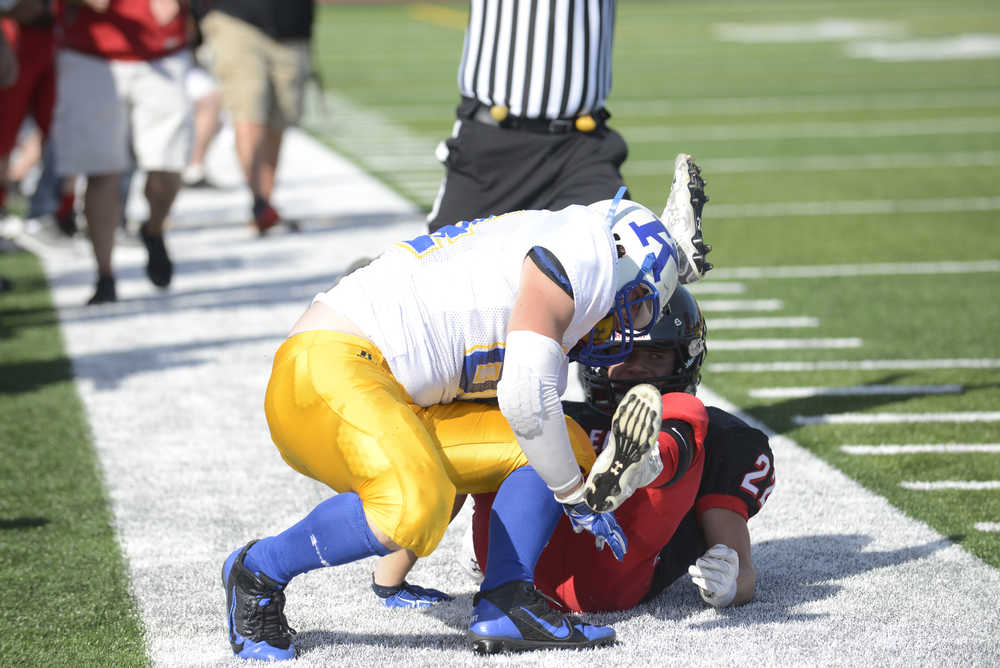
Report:
M 243 659 L 283 661 L 295 658 L 285 619 L 285 587 L 243 565 L 250 541 L 226 558 L 222 586 L 226 588 L 226 628 L 233 654 Z

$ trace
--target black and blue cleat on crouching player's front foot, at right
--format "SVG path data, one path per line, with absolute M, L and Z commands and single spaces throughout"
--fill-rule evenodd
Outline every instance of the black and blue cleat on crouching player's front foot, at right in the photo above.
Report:
M 525 580 L 481 591 L 473 599 L 469 643 L 479 654 L 529 649 L 581 649 L 615 642 L 615 630 L 553 610 Z

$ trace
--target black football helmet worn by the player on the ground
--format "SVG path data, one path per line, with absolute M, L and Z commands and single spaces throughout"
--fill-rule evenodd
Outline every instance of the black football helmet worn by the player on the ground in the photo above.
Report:
M 674 370 L 666 376 L 611 380 L 607 367 L 580 365 L 587 404 L 602 413 L 611 414 L 633 385 L 649 383 L 667 392 L 694 394 L 701 382 L 701 365 L 705 361 L 705 318 L 698 302 L 687 289 L 678 285 L 660 318 L 648 335 L 637 337 L 634 349 L 673 350 Z

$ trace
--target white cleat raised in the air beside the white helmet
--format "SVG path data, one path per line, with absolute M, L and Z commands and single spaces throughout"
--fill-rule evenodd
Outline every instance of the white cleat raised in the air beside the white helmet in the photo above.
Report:
M 701 235 L 701 210 L 707 201 L 701 168 L 687 153 L 678 154 L 674 160 L 670 196 L 660 220 L 677 242 L 677 250 L 680 251 L 677 274 L 681 283 L 701 280 L 705 272 L 712 268 L 711 263 L 705 261 L 712 247 L 705 243 Z

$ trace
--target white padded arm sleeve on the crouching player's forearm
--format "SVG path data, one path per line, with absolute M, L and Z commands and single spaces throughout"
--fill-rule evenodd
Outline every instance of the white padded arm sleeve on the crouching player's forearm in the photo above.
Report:
M 497 385 L 500 412 L 528 462 L 557 496 L 582 482 L 559 401 L 568 364 L 553 339 L 526 330 L 510 332 Z

